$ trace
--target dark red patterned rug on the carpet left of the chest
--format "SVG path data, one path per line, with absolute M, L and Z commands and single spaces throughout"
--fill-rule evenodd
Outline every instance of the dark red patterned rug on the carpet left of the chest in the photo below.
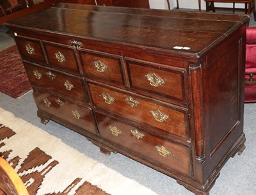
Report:
M 0 92 L 18 98 L 31 90 L 29 79 L 16 45 L 0 52 Z

